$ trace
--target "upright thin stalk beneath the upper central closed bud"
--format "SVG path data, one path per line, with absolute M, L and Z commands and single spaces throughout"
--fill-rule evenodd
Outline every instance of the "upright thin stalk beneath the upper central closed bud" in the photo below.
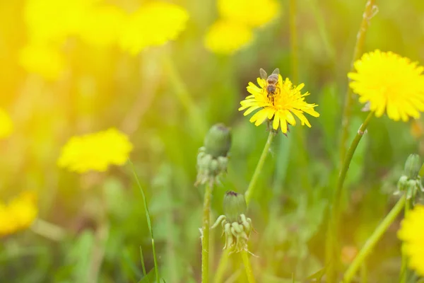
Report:
M 206 183 L 201 238 L 201 282 L 209 282 L 209 221 L 211 219 L 211 195 L 213 184 Z

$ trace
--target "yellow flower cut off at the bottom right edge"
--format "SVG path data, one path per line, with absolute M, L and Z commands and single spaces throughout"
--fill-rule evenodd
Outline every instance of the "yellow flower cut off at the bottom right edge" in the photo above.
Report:
M 424 206 L 418 204 L 401 223 L 398 237 L 404 241 L 402 250 L 411 269 L 424 276 Z

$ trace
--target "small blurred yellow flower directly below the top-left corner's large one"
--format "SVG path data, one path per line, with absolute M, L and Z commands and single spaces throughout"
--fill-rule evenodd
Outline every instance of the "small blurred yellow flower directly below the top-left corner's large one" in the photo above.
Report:
M 59 79 L 65 69 L 62 54 L 49 45 L 26 45 L 20 50 L 19 62 L 29 73 L 39 74 L 52 81 Z

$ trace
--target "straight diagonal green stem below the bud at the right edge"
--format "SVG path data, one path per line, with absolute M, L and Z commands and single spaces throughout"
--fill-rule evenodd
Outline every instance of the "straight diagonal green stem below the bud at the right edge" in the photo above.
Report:
M 403 195 L 391 209 L 389 214 L 387 214 L 383 221 L 379 224 L 379 226 L 377 226 L 370 238 L 367 239 L 365 245 L 360 250 L 355 260 L 353 260 L 351 265 L 348 267 L 348 270 L 346 270 L 345 274 L 343 275 L 343 283 L 349 283 L 352 281 L 353 276 L 355 276 L 355 273 L 358 271 L 358 268 L 363 263 L 365 258 L 367 258 L 367 255 L 370 254 L 372 248 L 375 247 L 375 244 L 377 244 L 379 239 L 382 237 L 383 233 L 387 231 L 387 229 L 389 229 L 389 226 L 396 219 L 396 216 L 398 216 L 398 214 L 402 211 L 405 202 L 406 197 L 405 195 Z

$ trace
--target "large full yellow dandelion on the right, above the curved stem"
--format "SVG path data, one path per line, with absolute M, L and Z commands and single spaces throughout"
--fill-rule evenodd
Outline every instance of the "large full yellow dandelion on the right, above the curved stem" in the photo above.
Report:
M 360 103 L 370 102 L 377 117 L 387 112 L 391 120 L 406 122 L 424 110 L 424 68 L 417 65 L 398 54 L 375 50 L 355 62 L 349 85 Z

